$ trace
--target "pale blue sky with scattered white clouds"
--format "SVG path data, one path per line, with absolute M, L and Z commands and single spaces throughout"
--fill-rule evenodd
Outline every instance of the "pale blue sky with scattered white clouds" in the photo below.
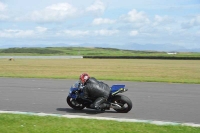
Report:
M 0 48 L 200 49 L 200 0 L 0 0 Z

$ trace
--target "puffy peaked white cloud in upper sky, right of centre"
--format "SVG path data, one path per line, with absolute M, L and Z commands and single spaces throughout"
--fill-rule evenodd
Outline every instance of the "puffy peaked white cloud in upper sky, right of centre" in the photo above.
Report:
M 133 9 L 128 14 L 120 17 L 123 21 L 130 23 L 148 23 L 150 22 L 149 18 L 146 16 L 144 12 L 138 12 Z

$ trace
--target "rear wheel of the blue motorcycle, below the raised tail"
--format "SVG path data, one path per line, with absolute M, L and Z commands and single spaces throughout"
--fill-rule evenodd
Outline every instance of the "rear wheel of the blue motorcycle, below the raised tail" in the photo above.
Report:
M 132 102 L 127 96 L 116 95 L 112 98 L 111 102 L 121 106 L 121 109 L 114 109 L 119 113 L 127 113 L 132 109 Z

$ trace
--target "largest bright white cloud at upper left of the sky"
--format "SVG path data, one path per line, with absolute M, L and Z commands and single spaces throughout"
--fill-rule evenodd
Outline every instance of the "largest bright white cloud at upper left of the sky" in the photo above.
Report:
M 76 15 L 77 9 L 68 3 L 58 3 L 41 11 L 34 11 L 31 20 L 36 22 L 60 22 Z

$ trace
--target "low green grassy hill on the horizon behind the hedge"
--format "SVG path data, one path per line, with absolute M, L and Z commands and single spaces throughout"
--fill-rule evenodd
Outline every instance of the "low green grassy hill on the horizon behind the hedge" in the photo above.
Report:
M 200 53 L 179 52 L 177 54 L 167 54 L 158 51 L 136 51 L 122 50 L 116 48 L 100 47 L 46 47 L 46 48 L 7 48 L 0 49 L 0 56 L 14 55 L 81 55 L 81 56 L 177 56 L 177 57 L 200 57 Z

